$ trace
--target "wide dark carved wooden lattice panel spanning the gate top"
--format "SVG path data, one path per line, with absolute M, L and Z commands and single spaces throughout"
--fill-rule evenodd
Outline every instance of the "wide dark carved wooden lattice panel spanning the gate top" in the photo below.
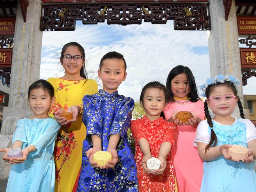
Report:
M 60 14 L 61 13 L 61 14 Z M 117 2 L 59 4 L 42 6 L 41 31 L 75 30 L 76 20 L 83 24 L 166 24 L 174 20 L 175 30 L 210 30 L 208 4 Z

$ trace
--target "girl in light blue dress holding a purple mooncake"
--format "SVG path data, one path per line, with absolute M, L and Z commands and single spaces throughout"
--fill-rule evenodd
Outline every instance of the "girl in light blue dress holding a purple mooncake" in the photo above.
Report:
M 13 148 L 22 149 L 22 157 L 9 158 L 13 148 L 0 149 L 3 159 L 11 166 L 6 192 L 53 192 L 55 166 L 54 142 L 60 125 L 48 116 L 54 103 L 54 88 L 46 80 L 34 82 L 28 89 L 28 100 L 33 116 L 19 119 L 13 134 Z

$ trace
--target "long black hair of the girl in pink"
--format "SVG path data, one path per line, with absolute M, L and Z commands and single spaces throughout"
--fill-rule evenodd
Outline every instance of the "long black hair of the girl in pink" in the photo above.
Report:
M 185 90 L 187 90 L 187 86 L 189 86 L 189 94 L 187 94 L 187 92 L 186 92 L 187 97 L 190 98 L 189 101 L 197 102 L 200 99 L 200 97 L 198 96 L 195 78 L 193 76 L 192 71 L 189 69 L 189 67 L 185 67 L 183 65 L 178 65 L 178 66 L 174 67 L 170 71 L 170 73 L 167 77 L 166 89 L 168 91 L 168 94 L 170 95 L 170 101 L 174 102 L 174 95 L 172 93 L 171 81 L 175 76 L 180 75 L 182 73 L 184 73 L 187 76 L 187 84 L 186 84 Z

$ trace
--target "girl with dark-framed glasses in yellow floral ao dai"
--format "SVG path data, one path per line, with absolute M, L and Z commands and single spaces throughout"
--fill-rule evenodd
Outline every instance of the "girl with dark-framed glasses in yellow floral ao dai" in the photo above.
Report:
M 84 70 L 84 48 L 76 42 L 70 42 L 62 48 L 60 62 L 65 75 L 61 78 L 49 78 L 55 89 L 56 102 L 49 110 L 50 116 L 62 125 L 58 132 L 54 148 L 56 168 L 55 192 L 72 192 L 77 190 L 77 178 L 82 163 L 82 142 L 86 136 L 86 127 L 82 123 L 82 98 L 84 95 L 97 93 L 97 83 L 87 79 Z M 60 114 L 69 106 L 80 106 L 80 111 L 73 114 L 75 122 L 67 121 Z

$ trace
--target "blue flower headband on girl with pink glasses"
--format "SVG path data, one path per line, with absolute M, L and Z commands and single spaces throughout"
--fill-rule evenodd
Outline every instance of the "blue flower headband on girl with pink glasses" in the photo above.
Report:
M 204 83 L 200 86 L 200 89 L 203 91 L 202 97 L 206 97 L 206 88 L 209 85 L 217 84 L 217 83 L 224 83 L 225 81 L 230 81 L 230 82 L 234 83 L 235 85 L 238 85 L 240 83 L 238 78 L 235 78 L 233 75 L 224 76 L 224 75 L 220 74 L 220 75 L 217 75 L 213 78 L 208 78 L 206 80 L 206 83 Z

